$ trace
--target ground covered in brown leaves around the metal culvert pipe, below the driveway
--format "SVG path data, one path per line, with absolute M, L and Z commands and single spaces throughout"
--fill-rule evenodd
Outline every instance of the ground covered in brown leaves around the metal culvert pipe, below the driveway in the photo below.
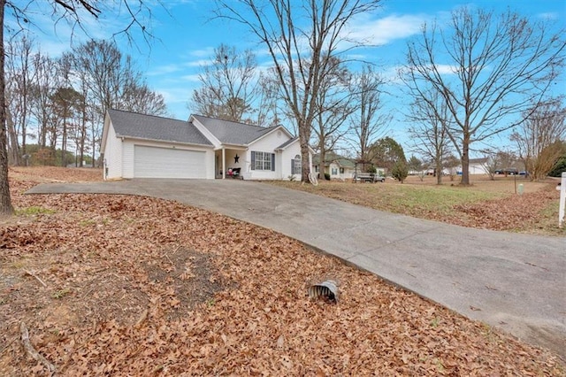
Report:
M 550 351 L 264 228 L 141 196 L 21 195 L 48 175 L 11 171 L 0 375 L 48 374 L 21 322 L 57 375 L 565 373 Z M 307 296 L 329 278 L 338 304 Z

